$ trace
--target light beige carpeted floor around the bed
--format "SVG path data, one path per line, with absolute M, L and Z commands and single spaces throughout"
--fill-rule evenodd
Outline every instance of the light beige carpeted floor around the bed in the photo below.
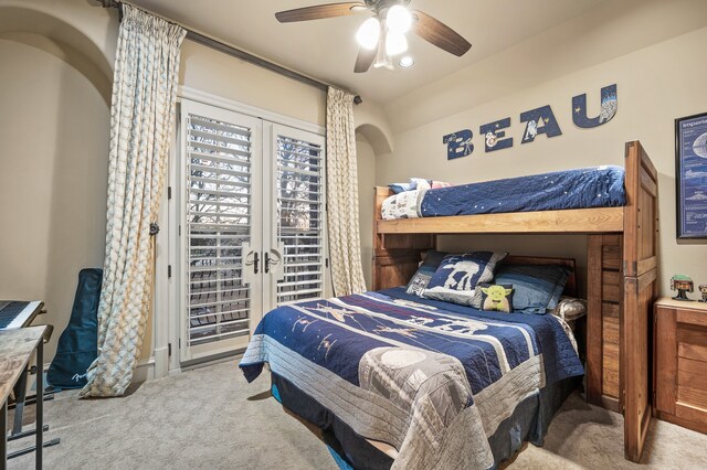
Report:
M 140 385 L 129 396 L 49 402 L 46 469 L 333 469 L 326 447 L 267 393 L 268 378 L 247 384 L 235 362 Z M 508 469 L 707 468 L 707 436 L 654 420 L 646 464 L 623 459 L 622 417 L 572 395 L 546 445 L 527 445 Z M 27 439 L 31 440 L 31 439 Z M 17 449 L 17 442 L 11 442 Z M 10 469 L 33 468 L 33 455 Z

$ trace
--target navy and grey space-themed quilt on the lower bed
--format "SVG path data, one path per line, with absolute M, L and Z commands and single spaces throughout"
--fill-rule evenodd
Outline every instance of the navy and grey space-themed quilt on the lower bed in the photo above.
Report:
M 402 288 L 279 307 L 241 361 L 273 373 L 360 436 L 398 450 L 393 468 L 490 468 L 488 438 L 526 397 L 583 374 L 552 316 L 483 312 Z

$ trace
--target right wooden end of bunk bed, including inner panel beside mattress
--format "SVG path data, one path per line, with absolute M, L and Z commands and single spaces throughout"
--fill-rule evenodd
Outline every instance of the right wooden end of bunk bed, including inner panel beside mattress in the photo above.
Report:
M 657 297 L 657 173 L 641 143 L 625 147 L 623 233 L 590 234 L 587 399 L 624 415 L 639 461 L 651 421 L 651 338 Z

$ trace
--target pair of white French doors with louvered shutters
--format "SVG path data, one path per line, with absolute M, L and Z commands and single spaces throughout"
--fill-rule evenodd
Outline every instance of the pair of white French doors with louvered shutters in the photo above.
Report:
M 182 100 L 180 361 L 245 348 L 263 313 L 325 297 L 324 138 Z

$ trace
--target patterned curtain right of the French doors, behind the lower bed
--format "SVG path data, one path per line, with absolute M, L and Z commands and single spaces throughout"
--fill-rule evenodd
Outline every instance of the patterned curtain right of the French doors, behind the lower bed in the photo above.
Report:
M 366 291 L 358 223 L 354 95 L 329 87 L 327 95 L 327 200 L 334 292 Z

